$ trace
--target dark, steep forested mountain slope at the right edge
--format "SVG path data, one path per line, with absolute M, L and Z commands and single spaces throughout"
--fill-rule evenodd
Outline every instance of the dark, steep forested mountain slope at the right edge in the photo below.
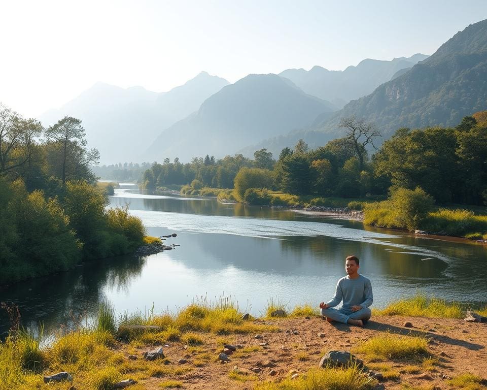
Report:
M 356 115 L 374 122 L 387 139 L 399 127 L 455 126 L 486 106 L 487 20 L 483 20 L 316 127 L 336 137 L 340 118 Z

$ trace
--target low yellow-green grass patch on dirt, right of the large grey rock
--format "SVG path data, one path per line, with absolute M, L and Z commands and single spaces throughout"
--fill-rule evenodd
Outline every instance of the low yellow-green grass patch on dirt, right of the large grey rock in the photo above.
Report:
M 370 361 L 421 361 L 429 356 L 428 339 L 392 334 L 372 337 L 354 350 L 365 354 Z

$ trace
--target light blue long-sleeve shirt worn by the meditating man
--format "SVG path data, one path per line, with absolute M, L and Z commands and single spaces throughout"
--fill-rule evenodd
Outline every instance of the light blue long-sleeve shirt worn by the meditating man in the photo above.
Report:
M 372 284 L 365 276 L 359 275 L 358 278 L 350 279 L 344 276 L 336 284 L 335 296 L 326 304 L 334 307 L 343 301 L 342 307 L 351 308 L 352 306 L 369 307 L 372 305 Z

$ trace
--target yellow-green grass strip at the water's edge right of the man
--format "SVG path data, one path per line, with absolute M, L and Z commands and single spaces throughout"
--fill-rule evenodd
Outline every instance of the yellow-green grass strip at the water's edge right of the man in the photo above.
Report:
M 459 303 L 447 303 L 439 298 L 428 298 L 423 293 L 394 301 L 384 310 L 375 309 L 374 314 L 440 318 L 463 318 L 464 315 Z

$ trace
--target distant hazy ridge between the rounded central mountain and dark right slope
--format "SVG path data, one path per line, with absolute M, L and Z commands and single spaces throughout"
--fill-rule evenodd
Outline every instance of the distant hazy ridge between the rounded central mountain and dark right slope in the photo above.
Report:
M 418 53 L 408 58 L 394 58 L 392 61 L 364 59 L 356 67 L 350 66 L 344 71 L 329 71 L 315 66 L 309 71 L 288 69 L 280 76 L 288 78 L 304 92 L 342 108 L 351 100 L 361 98 L 391 80 L 396 72 L 411 68 L 426 58 L 427 55 Z

